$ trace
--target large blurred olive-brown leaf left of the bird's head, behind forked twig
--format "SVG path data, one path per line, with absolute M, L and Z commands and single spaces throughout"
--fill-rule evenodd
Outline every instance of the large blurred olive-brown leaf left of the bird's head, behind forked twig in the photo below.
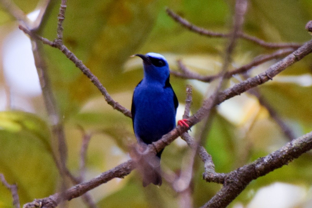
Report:
M 55 6 L 43 31 L 43 36 L 50 39 L 55 38 L 57 12 Z M 122 81 L 129 79 L 120 74 L 123 64 L 148 36 L 157 12 L 155 1 L 69 2 L 64 21 L 64 43 L 109 90 L 118 85 L 126 86 Z M 51 80 L 65 114 L 76 112 L 92 95 L 100 95 L 61 52 L 51 47 L 45 47 L 45 51 L 49 57 Z M 110 83 L 114 88 L 109 87 Z

